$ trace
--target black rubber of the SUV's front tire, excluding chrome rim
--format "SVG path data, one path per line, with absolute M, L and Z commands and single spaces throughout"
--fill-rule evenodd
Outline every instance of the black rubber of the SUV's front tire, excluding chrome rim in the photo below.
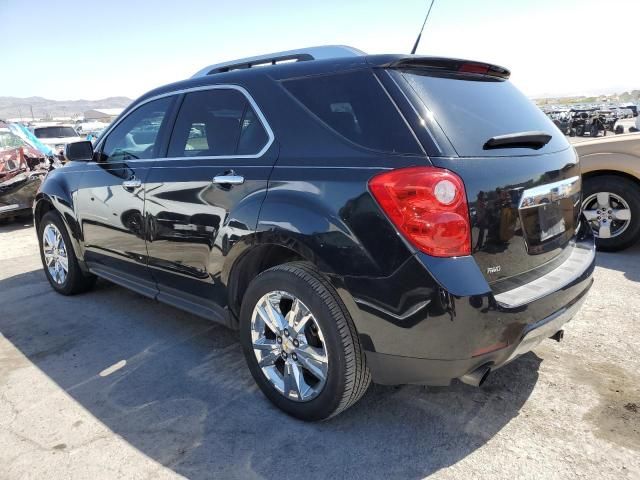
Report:
M 42 248 L 42 234 L 47 225 L 54 225 L 64 240 L 65 250 L 67 253 L 67 261 L 68 261 L 68 272 L 66 279 L 62 283 L 57 283 L 49 269 L 47 268 L 46 261 L 44 258 L 44 250 Z M 78 263 L 78 259 L 76 258 L 75 252 L 73 251 L 73 246 L 71 243 L 71 238 L 69 238 L 69 234 L 67 233 L 67 229 L 64 225 L 64 222 L 60 218 L 60 215 L 55 211 L 49 211 L 44 214 L 42 219 L 40 220 L 40 224 L 38 225 L 38 244 L 40 245 L 40 259 L 42 260 L 42 267 L 44 269 L 44 273 L 49 280 L 49 284 L 53 289 L 61 293 L 62 295 L 75 295 L 77 293 L 86 292 L 91 290 L 96 283 L 95 275 L 90 273 L 84 273 L 80 265 Z

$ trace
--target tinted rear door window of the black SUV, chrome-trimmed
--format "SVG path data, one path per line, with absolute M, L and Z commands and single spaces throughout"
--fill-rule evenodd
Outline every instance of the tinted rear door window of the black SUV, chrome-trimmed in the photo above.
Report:
M 267 133 L 246 97 L 212 89 L 185 95 L 169 142 L 169 157 L 254 155 Z

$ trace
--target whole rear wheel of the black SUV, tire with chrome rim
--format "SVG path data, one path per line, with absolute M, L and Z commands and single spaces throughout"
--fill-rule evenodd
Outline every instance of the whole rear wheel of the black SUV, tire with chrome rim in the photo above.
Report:
M 263 318 L 258 306 L 265 305 L 265 298 L 274 298 L 270 297 L 272 294 L 284 294 L 289 299 L 286 301 L 300 301 L 302 307 L 311 315 L 311 320 L 307 320 L 307 323 L 313 322 L 316 332 L 320 331 L 319 338 L 322 339 L 322 344 L 319 348 L 326 352 L 325 374 L 322 387 L 310 395 L 308 400 L 305 400 L 300 392 L 309 391 L 306 388 L 307 381 L 309 385 L 314 384 L 314 376 L 308 377 L 311 370 L 297 370 L 304 373 L 305 382 L 302 388 L 300 385 L 294 386 L 293 389 L 284 388 L 287 392 L 285 394 L 280 387 L 280 382 L 287 385 L 285 375 L 291 371 L 287 369 L 298 368 L 287 362 L 297 362 L 301 358 L 300 354 L 296 357 L 295 352 L 302 351 L 302 348 L 294 349 L 290 343 L 293 335 L 289 331 L 293 332 L 293 325 L 297 324 L 297 315 L 288 313 L 293 311 L 292 303 L 289 303 L 287 312 L 287 305 L 283 307 L 282 301 L 276 305 L 276 310 L 282 315 L 278 316 L 278 322 L 284 322 L 282 328 L 276 329 L 281 333 L 271 331 L 268 335 L 271 338 L 269 348 L 273 348 L 269 352 L 273 352 L 272 358 L 276 360 L 265 361 L 267 355 L 255 349 L 255 345 L 258 344 L 255 340 L 258 324 L 256 319 Z M 266 325 L 266 322 L 262 325 Z M 264 330 L 268 328 L 266 326 Z M 295 342 L 300 339 L 299 345 L 306 342 L 306 337 L 305 340 L 301 336 L 295 338 Z M 244 295 L 240 312 L 240 343 L 249 370 L 264 395 L 278 408 L 301 420 L 326 420 L 339 414 L 356 403 L 371 382 L 365 354 L 349 312 L 331 284 L 309 263 L 278 265 L 262 272 L 251 282 Z M 258 356 L 261 357 L 261 365 L 258 363 Z

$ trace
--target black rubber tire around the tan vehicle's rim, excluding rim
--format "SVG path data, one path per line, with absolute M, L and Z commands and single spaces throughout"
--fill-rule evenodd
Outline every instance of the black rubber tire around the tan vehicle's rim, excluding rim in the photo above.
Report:
M 630 247 L 640 238 L 640 186 L 616 175 L 602 175 L 584 181 L 582 198 L 588 199 L 598 192 L 611 192 L 623 198 L 631 210 L 631 223 L 624 232 L 612 238 L 596 238 L 598 250 L 615 252 Z

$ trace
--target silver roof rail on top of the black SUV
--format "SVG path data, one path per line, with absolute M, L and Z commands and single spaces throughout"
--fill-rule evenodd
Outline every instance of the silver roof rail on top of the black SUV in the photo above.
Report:
M 231 70 L 242 70 L 246 68 L 276 65 L 285 62 L 304 62 L 307 60 L 325 60 L 329 58 L 359 57 L 366 55 L 357 48 L 346 45 L 325 45 L 322 47 L 309 47 L 300 50 L 288 50 L 286 52 L 269 53 L 256 57 L 241 58 L 224 63 L 209 65 L 198 71 L 193 77 L 204 77 L 216 73 L 230 72 Z

